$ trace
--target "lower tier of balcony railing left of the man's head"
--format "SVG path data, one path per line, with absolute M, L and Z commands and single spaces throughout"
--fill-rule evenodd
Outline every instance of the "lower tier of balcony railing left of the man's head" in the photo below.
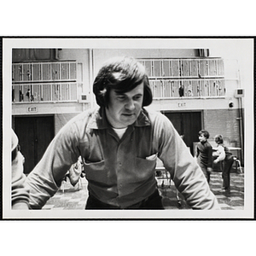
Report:
M 13 84 L 12 102 L 77 102 L 78 83 Z

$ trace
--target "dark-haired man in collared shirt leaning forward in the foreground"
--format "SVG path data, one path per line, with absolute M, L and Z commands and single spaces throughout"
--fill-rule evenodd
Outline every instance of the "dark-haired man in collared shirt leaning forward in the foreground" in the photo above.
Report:
M 41 208 L 79 156 L 89 197 L 86 209 L 163 209 L 157 158 L 195 209 L 219 209 L 207 181 L 172 123 L 147 111 L 152 93 L 145 68 L 125 57 L 108 61 L 93 92 L 100 108 L 79 113 L 55 136 L 27 177 L 30 205 Z

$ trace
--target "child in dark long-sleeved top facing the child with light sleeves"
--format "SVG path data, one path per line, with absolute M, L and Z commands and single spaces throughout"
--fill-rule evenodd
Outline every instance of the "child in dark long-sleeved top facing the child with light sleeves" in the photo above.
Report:
M 196 144 L 195 158 L 197 158 L 198 164 L 207 178 L 207 182 L 210 183 L 212 172 L 212 145 L 207 141 L 210 134 L 206 130 L 201 130 L 198 133 L 198 137 L 200 142 Z

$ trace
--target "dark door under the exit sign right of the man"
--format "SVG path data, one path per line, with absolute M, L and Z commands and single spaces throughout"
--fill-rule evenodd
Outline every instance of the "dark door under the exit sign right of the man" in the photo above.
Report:
M 179 135 L 183 135 L 184 143 L 194 154 L 193 143 L 198 142 L 198 131 L 201 130 L 201 112 L 163 112 L 172 121 Z

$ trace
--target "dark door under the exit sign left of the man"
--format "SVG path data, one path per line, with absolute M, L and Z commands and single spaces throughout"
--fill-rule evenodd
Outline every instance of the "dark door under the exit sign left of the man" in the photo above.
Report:
M 15 117 L 15 133 L 25 157 L 24 172 L 29 173 L 54 137 L 54 117 Z

